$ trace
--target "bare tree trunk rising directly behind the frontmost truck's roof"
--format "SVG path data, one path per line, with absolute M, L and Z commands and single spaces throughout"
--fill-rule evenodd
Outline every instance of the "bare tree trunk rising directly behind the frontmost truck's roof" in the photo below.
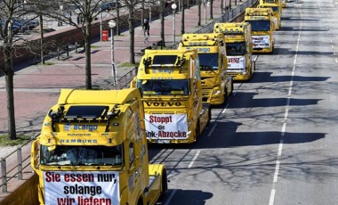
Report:
M 85 18 L 84 53 L 85 53 L 85 88 L 92 89 L 92 67 L 91 67 L 91 29 L 92 24 Z

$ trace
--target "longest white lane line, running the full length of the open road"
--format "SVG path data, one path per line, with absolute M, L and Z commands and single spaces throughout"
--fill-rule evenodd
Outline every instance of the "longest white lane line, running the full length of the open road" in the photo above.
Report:
M 301 18 L 302 18 L 302 11 L 299 8 L 298 8 L 298 11 L 300 12 Z M 275 202 L 276 184 L 278 182 L 280 158 L 281 158 L 282 152 L 283 152 L 283 144 L 284 144 L 283 138 L 286 135 L 286 121 L 287 121 L 287 116 L 288 116 L 288 112 L 289 112 L 289 105 L 290 105 L 292 89 L 293 89 L 293 85 L 294 85 L 294 71 L 295 71 L 295 68 L 296 68 L 297 56 L 298 56 L 298 52 L 299 52 L 299 45 L 300 45 L 300 42 L 301 42 L 301 34 L 302 34 L 302 21 L 301 21 L 301 24 L 300 24 L 300 27 L 299 27 L 297 45 L 296 45 L 295 54 L 294 54 L 294 65 L 293 65 L 293 70 L 292 70 L 292 74 L 291 74 L 290 86 L 289 86 L 288 94 L 287 94 L 286 112 L 284 114 L 285 122 L 283 123 L 280 141 L 279 141 L 279 145 L 278 145 L 278 156 L 277 156 L 277 160 L 276 160 L 275 173 L 274 173 L 274 176 L 273 176 L 269 205 L 273 205 L 274 202 Z

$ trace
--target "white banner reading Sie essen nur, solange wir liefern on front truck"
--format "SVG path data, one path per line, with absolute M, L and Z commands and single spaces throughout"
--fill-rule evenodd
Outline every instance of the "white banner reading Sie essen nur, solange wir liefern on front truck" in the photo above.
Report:
M 44 171 L 44 204 L 120 204 L 116 171 Z

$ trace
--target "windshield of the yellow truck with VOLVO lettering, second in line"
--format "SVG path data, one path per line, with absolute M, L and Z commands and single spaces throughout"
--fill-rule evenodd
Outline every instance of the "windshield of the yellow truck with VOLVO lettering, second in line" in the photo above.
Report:
M 189 79 L 139 80 L 142 94 L 146 95 L 189 95 Z

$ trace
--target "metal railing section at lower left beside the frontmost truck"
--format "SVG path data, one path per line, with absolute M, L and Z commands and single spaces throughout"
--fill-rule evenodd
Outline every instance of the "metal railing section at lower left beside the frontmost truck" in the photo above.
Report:
M 37 135 L 36 135 L 37 136 Z M 0 187 L 2 187 L 2 192 L 7 193 L 8 191 L 8 182 L 10 182 L 13 178 L 18 178 L 19 180 L 23 179 L 23 173 L 26 168 L 30 166 L 30 154 L 26 157 L 22 157 L 22 150 L 28 149 L 30 151 L 30 146 L 25 147 L 28 145 L 28 143 L 31 143 L 36 136 L 28 141 L 27 143 L 24 143 L 17 147 L 17 149 L 5 156 L 4 158 L 1 158 L 1 184 Z M 16 153 L 16 156 L 15 156 Z M 9 163 L 10 161 L 15 161 L 16 158 L 16 164 Z

